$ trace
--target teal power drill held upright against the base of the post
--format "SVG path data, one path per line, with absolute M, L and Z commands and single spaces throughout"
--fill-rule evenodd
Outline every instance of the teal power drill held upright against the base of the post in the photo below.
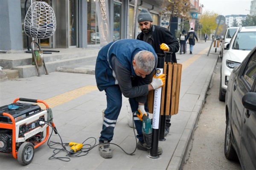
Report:
M 137 111 L 137 114 L 140 115 L 140 113 Z M 152 126 L 151 126 L 151 120 L 148 118 L 148 116 L 143 115 L 142 117 L 142 133 L 143 133 L 143 139 L 146 143 L 147 149 L 151 149 L 152 144 Z

